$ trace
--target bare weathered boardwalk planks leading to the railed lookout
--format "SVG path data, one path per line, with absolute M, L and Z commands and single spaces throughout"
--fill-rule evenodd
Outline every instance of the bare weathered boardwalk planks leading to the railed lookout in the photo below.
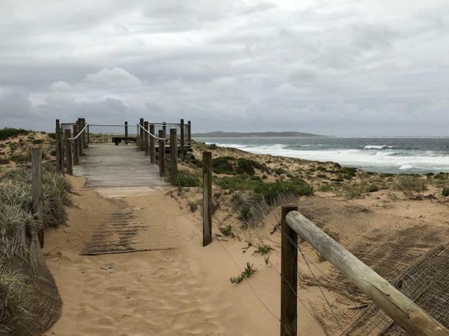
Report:
M 91 144 L 84 154 L 73 174 L 105 197 L 148 195 L 170 186 L 159 176 L 158 165 L 133 144 Z

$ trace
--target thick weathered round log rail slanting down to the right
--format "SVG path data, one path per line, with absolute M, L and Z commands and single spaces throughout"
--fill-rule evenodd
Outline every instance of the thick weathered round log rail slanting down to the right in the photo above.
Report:
M 286 223 L 410 335 L 449 336 L 449 330 L 441 323 L 302 214 L 291 211 L 286 216 Z

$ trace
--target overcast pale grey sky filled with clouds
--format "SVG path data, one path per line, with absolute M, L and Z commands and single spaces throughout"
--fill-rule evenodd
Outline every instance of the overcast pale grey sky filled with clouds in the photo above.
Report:
M 0 127 L 449 136 L 448 0 L 0 0 Z

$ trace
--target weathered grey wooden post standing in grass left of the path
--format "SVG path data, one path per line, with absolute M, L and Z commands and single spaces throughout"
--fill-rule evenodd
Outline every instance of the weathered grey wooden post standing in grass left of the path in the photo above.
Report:
M 32 214 L 42 223 L 42 148 L 32 148 L 31 152 Z M 37 232 L 39 244 L 43 247 L 43 230 Z

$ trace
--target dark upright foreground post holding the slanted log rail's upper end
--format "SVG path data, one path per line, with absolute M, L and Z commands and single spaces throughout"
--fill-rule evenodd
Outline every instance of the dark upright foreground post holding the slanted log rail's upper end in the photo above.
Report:
M 297 234 L 286 216 L 297 207 L 281 210 L 281 336 L 297 335 Z

